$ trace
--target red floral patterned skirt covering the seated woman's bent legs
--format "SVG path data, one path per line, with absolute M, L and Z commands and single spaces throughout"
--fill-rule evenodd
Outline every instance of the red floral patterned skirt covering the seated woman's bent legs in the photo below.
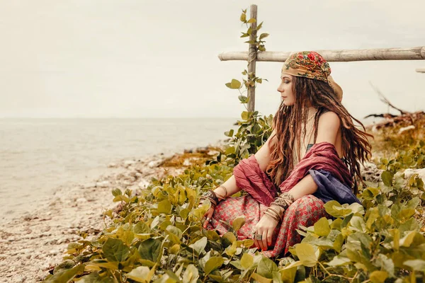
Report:
M 214 229 L 223 235 L 228 232 L 227 224 L 232 225 L 234 219 L 244 216 L 245 224 L 237 231 L 238 240 L 252 238 L 253 228 L 266 209 L 266 205 L 257 202 L 251 195 L 229 197 L 217 205 L 207 229 Z M 268 247 L 268 250 L 263 250 L 263 255 L 268 258 L 284 256 L 288 253 L 290 246 L 301 241 L 301 235 L 295 229 L 299 229 L 300 226 L 312 226 L 324 216 L 327 216 L 327 213 L 323 202 L 317 197 L 306 195 L 295 200 L 283 214 L 282 222 L 276 226 L 272 246 Z

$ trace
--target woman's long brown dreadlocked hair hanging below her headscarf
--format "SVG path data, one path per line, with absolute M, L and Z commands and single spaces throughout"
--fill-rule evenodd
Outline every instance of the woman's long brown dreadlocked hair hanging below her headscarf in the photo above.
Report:
M 317 108 L 314 129 L 317 129 L 322 113 L 331 111 L 338 115 L 341 120 L 342 154 L 345 163 L 351 175 L 360 178 L 360 163 L 368 161 L 370 158 L 370 144 L 367 137 L 372 137 L 372 135 L 366 133 L 363 124 L 348 113 L 327 82 L 293 76 L 293 93 L 295 104 L 286 106 L 283 102 L 280 103 L 273 118 L 276 140 L 270 143 L 271 161 L 266 168 L 273 183 L 280 185 L 293 170 L 293 152 L 294 149 L 300 149 L 302 125 L 305 128 L 309 107 Z M 363 130 L 356 127 L 353 120 Z M 314 132 L 314 141 L 316 138 L 317 130 Z M 353 190 L 355 193 L 357 192 L 356 183 L 354 183 Z

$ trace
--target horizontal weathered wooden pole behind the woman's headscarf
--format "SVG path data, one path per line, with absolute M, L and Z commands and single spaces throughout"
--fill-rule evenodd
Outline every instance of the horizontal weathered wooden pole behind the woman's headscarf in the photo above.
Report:
M 376 48 L 364 50 L 315 50 L 328 62 L 351 62 L 373 60 L 423 60 L 425 47 Z M 292 52 L 259 52 L 256 61 L 285 62 Z M 221 61 L 247 60 L 248 52 L 224 52 L 218 55 Z

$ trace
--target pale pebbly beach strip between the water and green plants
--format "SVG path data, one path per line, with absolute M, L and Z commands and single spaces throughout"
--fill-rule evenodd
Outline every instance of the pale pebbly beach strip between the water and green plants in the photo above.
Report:
M 196 149 L 120 160 L 110 163 L 92 182 L 58 187 L 50 201 L 40 204 L 31 213 L 6 220 L 1 227 L 0 277 L 4 282 L 42 281 L 62 262 L 68 243 L 84 239 L 81 233 L 90 238 L 105 228 L 103 212 L 118 206 L 113 202 L 111 190 L 134 191 L 149 185 L 152 177 L 179 174 L 190 166 L 191 158 L 180 168 L 164 168 L 162 163 L 184 152 L 210 150 L 221 144 L 222 141 L 218 141 L 216 145 Z

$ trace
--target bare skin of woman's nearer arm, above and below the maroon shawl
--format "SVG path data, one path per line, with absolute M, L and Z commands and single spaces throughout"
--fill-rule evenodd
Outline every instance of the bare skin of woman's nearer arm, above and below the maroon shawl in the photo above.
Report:
M 336 135 L 340 133 L 339 127 L 341 121 L 338 115 L 334 112 L 326 112 L 319 117 L 319 124 L 317 125 L 317 139 L 316 143 L 327 141 L 331 144 L 336 143 Z M 317 190 L 317 185 L 314 183 L 312 176 L 309 174 L 302 178 L 289 193 L 293 195 L 294 200 L 299 199 L 305 195 L 311 195 Z

